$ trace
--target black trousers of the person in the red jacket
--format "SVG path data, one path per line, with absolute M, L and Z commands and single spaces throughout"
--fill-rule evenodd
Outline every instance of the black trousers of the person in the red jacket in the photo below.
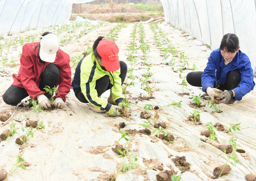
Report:
M 41 81 L 39 89 L 44 91 L 44 87 L 48 85 L 50 88 L 53 88 L 57 85 L 60 77 L 60 71 L 58 67 L 54 64 L 49 64 L 45 67 L 45 70 L 40 75 Z M 50 94 L 45 93 L 49 98 Z M 3 100 L 6 104 L 16 106 L 22 99 L 28 96 L 28 92 L 21 87 L 11 85 L 3 95 Z

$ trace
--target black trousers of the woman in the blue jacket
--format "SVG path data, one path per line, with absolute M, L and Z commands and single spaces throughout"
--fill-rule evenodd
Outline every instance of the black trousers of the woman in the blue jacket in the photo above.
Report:
M 202 71 L 190 72 L 186 76 L 186 79 L 190 85 L 196 86 L 196 87 L 202 87 L 201 79 L 202 79 L 203 73 L 204 72 Z M 230 91 L 238 87 L 240 81 L 241 81 L 240 71 L 239 70 L 230 71 L 227 73 L 226 83 L 219 85 L 218 89 L 222 91 L 224 90 Z M 214 87 L 216 87 L 215 82 L 214 82 Z

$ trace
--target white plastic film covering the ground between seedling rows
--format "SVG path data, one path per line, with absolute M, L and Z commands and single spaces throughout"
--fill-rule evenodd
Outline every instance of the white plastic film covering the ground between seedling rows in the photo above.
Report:
M 108 33 L 116 24 L 108 24 L 108 26 L 98 28 L 88 34 L 74 40 L 68 45 L 61 47 L 65 52 L 70 54 L 70 57 L 81 55 L 87 46 L 92 46 L 94 40 Z M 140 88 L 141 82 L 139 79 L 142 73 L 147 71 L 147 66 L 142 64 L 143 53 L 138 48 L 136 57 L 138 62 L 133 66 L 135 87 L 127 89 L 128 100 L 131 101 L 131 116 L 129 118 L 112 118 L 106 114 L 96 114 L 88 109 L 86 104 L 77 100 L 74 92 L 71 90 L 67 96 L 66 104 L 68 108 L 64 110 L 55 109 L 52 111 L 33 112 L 29 119 L 44 122 L 45 130 L 34 131 L 34 137 L 30 138 L 25 148 L 20 150 L 20 146 L 15 144 L 15 139 L 22 134 L 21 128 L 25 127 L 24 122 L 18 123 L 14 121 L 17 118 L 24 118 L 28 114 L 27 108 L 15 108 L 6 105 L 0 99 L 1 111 L 7 109 L 16 109 L 12 120 L 17 123 L 16 128 L 18 135 L 12 136 L 7 142 L 0 142 L 0 167 L 10 171 L 12 165 L 16 163 L 16 155 L 21 155 L 26 161 L 31 163 L 27 170 L 18 168 L 12 173 L 8 180 L 12 181 L 52 181 L 52 180 L 76 180 L 76 181 L 106 181 L 108 175 L 116 173 L 122 164 L 122 158 L 117 157 L 111 148 L 115 147 L 116 141 L 120 138 L 122 130 L 136 129 L 141 130 L 144 127 L 136 124 L 127 125 L 125 128 L 118 130 L 120 122 L 125 123 L 144 123 L 145 119 L 140 118 L 140 112 L 144 110 L 145 104 L 160 106 L 159 120 L 167 123 L 166 131 L 174 135 L 173 144 L 167 144 L 162 140 L 154 142 L 154 135 L 139 135 L 131 136 L 133 142 L 128 144 L 128 148 L 138 155 L 136 163 L 145 167 L 144 159 L 157 159 L 159 163 L 163 163 L 163 168 L 169 170 L 170 165 L 180 175 L 181 171 L 172 161 L 175 156 L 186 156 L 186 161 L 191 164 L 190 171 L 186 171 L 182 175 L 181 181 L 245 181 L 244 176 L 249 173 L 256 174 L 256 91 L 252 91 L 243 97 L 242 101 L 234 106 L 219 104 L 218 108 L 222 113 L 211 113 L 214 111 L 209 106 L 198 109 L 200 111 L 200 121 L 202 125 L 194 125 L 192 122 L 186 121 L 190 112 L 195 108 L 189 106 L 192 101 L 192 95 L 202 93 L 197 87 L 188 85 L 184 88 L 184 92 L 189 92 L 190 96 L 178 96 L 177 93 L 182 93 L 181 79 L 179 73 L 172 71 L 170 65 L 165 65 L 173 57 L 170 56 L 165 61 L 162 52 L 158 48 L 158 43 L 154 39 L 154 33 L 150 30 L 148 24 L 143 24 L 145 31 L 144 41 L 150 45 L 150 51 L 147 53 L 147 63 L 151 65 L 150 71 L 150 86 L 153 87 L 154 99 L 140 101 L 136 98 L 142 94 L 147 96 L 147 92 Z M 187 33 L 182 34 L 182 31 L 169 26 L 168 24 L 159 24 L 160 28 L 170 39 L 174 47 L 180 51 L 184 51 L 186 60 L 189 61 L 189 68 L 192 68 L 193 63 L 197 65 L 199 71 L 202 71 L 207 63 L 207 58 L 211 50 L 196 39 L 193 39 Z M 130 62 L 126 60 L 129 54 L 130 41 L 134 24 L 128 24 L 124 27 L 118 37 L 116 44 L 119 47 L 119 58 L 125 61 L 128 68 L 131 68 Z M 20 33 L 22 36 L 23 33 Z M 61 36 L 61 35 L 60 35 Z M 140 45 L 139 31 L 136 34 L 136 43 Z M 165 42 L 162 41 L 164 44 Z M 20 47 L 19 47 L 20 48 Z M 18 48 L 18 49 L 19 49 Z M 18 55 L 17 55 L 18 56 Z M 176 68 L 180 68 L 179 58 L 176 58 Z M 182 63 L 183 65 L 183 63 Z M 5 67 L 3 77 L 0 77 L 0 95 L 12 83 L 12 74 L 18 72 L 19 67 Z M 2 66 L 0 65 L 0 69 Z M 184 70 L 183 75 L 186 75 L 191 70 Z M 72 76 L 74 75 L 74 72 Z M 109 92 L 105 92 L 102 98 L 108 98 Z M 136 101 L 138 101 L 136 103 Z M 182 101 L 182 106 L 179 107 L 161 107 L 173 102 Z M 204 100 L 204 104 L 207 104 Z M 153 111 L 149 111 L 154 114 Z M 221 155 L 222 151 L 214 146 L 202 142 L 200 138 L 206 139 L 200 135 L 202 130 L 206 130 L 206 124 L 212 122 L 221 122 L 226 129 L 230 123 L 236 124 L 241 122 L 241 131 L 236 131 L 233 134 L 238 137 L 237 147 L 246 151 L 246 153 L 236 153 L 235 156 L 241 162 L 236 164 L 236 167 L 231 166 L 231 171 L 220 179 L 212 179 L 212 171 L 214 167 L 226 163 L 226 157 Z M 0 133 L 9 128 L 9 124 L 0 126 Z M 153 128 L 151 128 L 153 130 Z M 216 131 L 219 143 L 213 142 L 214 145 L 228 144 L 228 140 L 232 138 L 232 133 Z M 120 144 L 124 145 L 122 139 Z M 156 174 L 159 170 L 145 170 L 137 167 L 129 169 L 126 173 L 119 174 L 116 181 L 156 181 Z

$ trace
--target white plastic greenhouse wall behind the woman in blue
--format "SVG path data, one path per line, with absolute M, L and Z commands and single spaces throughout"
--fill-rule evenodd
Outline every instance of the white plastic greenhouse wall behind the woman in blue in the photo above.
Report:
M 217 49 L 235 33 L 256 74 L 256 0 L 161 0 L 166 21 Z

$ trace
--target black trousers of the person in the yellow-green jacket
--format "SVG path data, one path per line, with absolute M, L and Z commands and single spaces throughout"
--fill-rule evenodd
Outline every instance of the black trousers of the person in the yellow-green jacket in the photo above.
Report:
M 124 79 L 126 77 L 126 73 L 127 73 L 127 65 L 124 61 L 120 61 L 120 72 L 121 73 L 119 77 L 121 78 L 121 81 L 123 84 Z M 98 93 L 98 97 L 101 96 L 101 94 L 103 94 L 110 88 L 111 88 L 111 84 L 110 84 L 110 79 L 108 75 L 105 75 L 96 81 L 95 89 Z M 81 89 L 75 92 L 75 96 L 81 102 L 88 103 L 88 100 L 86 100 L 86 98 L 84 97 L 84 94 L 82 93 Z

